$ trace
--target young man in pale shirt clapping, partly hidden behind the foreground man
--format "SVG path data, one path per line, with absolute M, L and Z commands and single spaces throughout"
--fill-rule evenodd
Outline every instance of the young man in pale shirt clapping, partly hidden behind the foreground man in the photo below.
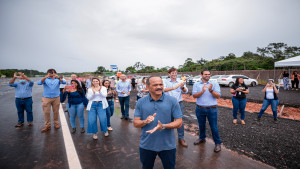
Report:
M 185 85 L 184 81 L 177 80 L 177 69 L 171 68 L 168 70 L 170 79 L 166 79 L 164 81 L 164 91 L 166 95 L 173 96 L 176 98 L 177 102 L 180 105 L 180 110 L 183 114 L 184 112 L 184 106 L 183 106 L 183 99 L 182 99 L 182 93 L 187 93 L 188 88 Z M 187 147 L 187 143 L 184 140 L 184 126 L 177 129 L 178 134 L 178 143 L 184 147 Z

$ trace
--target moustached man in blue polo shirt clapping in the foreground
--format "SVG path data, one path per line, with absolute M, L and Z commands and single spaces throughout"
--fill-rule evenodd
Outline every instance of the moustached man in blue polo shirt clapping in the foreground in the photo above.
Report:
M 143 169 L 152 169 L 158 155 L 165 169 L 175 168 L 175 128 L 182 126 L 182 112 L 177 99 L 163 93 L 160 77 L 146 82 L 150 94 L 139 99 L 134 114 L 134 127 L 141 128 L 140 160 Z

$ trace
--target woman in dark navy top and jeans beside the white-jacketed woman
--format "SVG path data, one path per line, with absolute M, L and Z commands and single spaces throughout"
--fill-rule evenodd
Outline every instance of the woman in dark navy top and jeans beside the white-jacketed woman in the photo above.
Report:
M 67 109 L 70 115 L 71 133 L 76 132 L 75 119 L 78 116 L 81 133 L 84 133 L 84 108 L 87 107 L 85 93 L 77 80 L 72 80 L 71 85 L 65 86 L 60 93 L 60 102 L 64 102 L 68 96 Z

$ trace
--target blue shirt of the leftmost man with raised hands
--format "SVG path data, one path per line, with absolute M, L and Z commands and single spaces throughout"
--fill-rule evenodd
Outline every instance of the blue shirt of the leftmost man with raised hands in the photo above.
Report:
M 33 81 L 26 81 L 24 84 L 22 83 L 12 83 L 9 84 L 9 86 L 15 88 L 15 97 L 16 98 L 27 98 L 27 97 L 32 97 L 32 87 L 33 87 L 34 82 Z

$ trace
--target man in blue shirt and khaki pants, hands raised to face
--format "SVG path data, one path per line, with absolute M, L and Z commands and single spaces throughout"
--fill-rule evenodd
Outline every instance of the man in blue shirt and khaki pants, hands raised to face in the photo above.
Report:
M 60 128 L 59 125 L 59 105 L 60 105 L 60 84 L 66 84 L 65 80 L 62 80 L 57 74 L 55 69 L 49 69 L 47 76 L 38 82 L 38 85 L 44 86 L 42 106 L 45 117 L 45 127 L 41 130 L 42 133 L 51 129 L 51 107 L 53 111 L 54 127 Z

